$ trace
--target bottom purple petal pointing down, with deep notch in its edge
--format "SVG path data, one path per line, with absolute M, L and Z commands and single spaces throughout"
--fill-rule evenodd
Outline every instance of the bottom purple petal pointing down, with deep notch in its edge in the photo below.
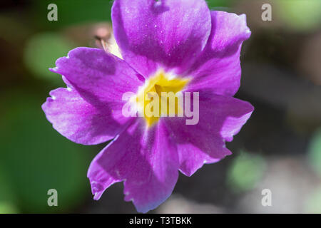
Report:
M 167 199 L 178 179 L 178 155 L 160 121 L 146 130 L 141 119 L 121 133 L 91 162 L 88 170 L 95 199 L 110 185 L 124 181 L 126 201 L 138 212 L 158 207 Z

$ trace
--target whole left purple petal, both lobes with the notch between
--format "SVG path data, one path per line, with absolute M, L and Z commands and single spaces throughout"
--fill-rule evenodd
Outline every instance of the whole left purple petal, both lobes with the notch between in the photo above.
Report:
M 68 89 L 51 92 L 43 105 L 48 120 L 73 142 L 111 140 L 131 118 L 123 115 L 123 93 L 136 93 L 143 77 L 120 58 L 97 48 L 76 48 L 58 58 L 56 68 Z

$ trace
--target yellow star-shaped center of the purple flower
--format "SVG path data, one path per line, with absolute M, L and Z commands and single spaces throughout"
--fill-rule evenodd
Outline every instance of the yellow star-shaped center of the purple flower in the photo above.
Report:
M 183 116 L 183 93 L 181 91 L 190 81 L 189 78 L 177 78 L 158 71 L 146 80 L 135 102 L 139 115 L 146 120 L 148 127 L 157 123 L 162 116 Z

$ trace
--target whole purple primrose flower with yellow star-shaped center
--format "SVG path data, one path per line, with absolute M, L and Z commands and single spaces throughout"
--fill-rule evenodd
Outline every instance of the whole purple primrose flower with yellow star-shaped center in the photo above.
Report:
M 88 170 L 94 199 L 123 182 L 125 200 L 148 212 L 173 192 L 178 171 L 190 176 L 231 154 L 225 142 L 253 112 L 250 103 L 233 98 L 250 29 L 245 15 L 210 11 L 203 0 L 115 0 L 111 17 L 121 58 L 98 48 L 58 58 L 51 71 L 68 87 L 52 90 L 42 108 L 73 142 L 112 140 Z M 190 110 L 198 105 L 199 119 L 186 124 L 178 105 L 174 117 L 163 117 L 163 106 L 160 116 L 123 115 L 128 92 L 143 110 L 150 92 L 190 92 L 198 101 Z

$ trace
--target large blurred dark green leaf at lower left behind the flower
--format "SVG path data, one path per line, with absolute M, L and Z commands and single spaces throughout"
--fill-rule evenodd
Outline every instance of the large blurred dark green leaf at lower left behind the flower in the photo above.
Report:
M 41 110 L 42 102 L 26 93 L 3 100 L 1 169 L 23 212 L 63 212 L 90 195 L 86 172 L 91 156 L 88 147 L 52 128 Z M 58 207 L 48 206 L 49 189 L 58 191 Z

